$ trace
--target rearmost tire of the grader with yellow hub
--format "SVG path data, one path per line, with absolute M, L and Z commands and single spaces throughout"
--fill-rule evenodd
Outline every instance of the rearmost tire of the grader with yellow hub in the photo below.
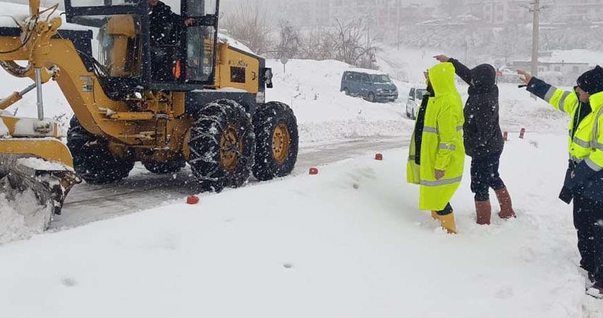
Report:
M 299 148 L 297 119 L 293 111 L 280 102 L 259 105 L 253 125 L 256 142 L 254 177 L 265 181 L 289 175 L 297 162 Z

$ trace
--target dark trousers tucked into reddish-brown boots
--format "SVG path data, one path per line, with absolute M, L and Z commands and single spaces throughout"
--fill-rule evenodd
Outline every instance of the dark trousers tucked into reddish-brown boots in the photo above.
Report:
M 494 153 L 471 158 L 471 192 L 475 193 L 475 201 L 489 200 L 490 188 L 496 191 L 505 187 L 499 175 L 501 154 Z

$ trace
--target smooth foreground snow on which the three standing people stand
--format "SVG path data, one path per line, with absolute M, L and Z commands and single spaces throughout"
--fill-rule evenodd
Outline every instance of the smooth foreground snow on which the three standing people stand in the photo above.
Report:
M 507 144 L 514 220 L 475 225 L 465 178 L 452 201 L 459 235 L 443 233 L 416 208 L 407 149 L 385 151 L 5 244 L 0 307 L 48 318 L 601 317 L 584 295 L 571 208 L 557 200 L 564 143 Z

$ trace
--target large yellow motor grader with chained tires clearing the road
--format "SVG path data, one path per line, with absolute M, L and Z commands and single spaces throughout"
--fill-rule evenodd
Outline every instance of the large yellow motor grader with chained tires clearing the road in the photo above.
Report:
M 81 179 L 120 181 L 136 162 L 157 174 L 188 163 L 204 191 L 242 186 L 250 174 L 290 174 L 297 120 L 286 104 L 265 102 L 265 60 L 219 34 L 219 0 L 170 5 L 169 21 L 153 21 L 147 0 L 65 0 L 65 22 L 57 6 L 41 10 L 31 0 L 27 18 L 0 25 L 0 66 L 34 81 L 0 100 L 0 190 L 8 200 L 33 191 L 50 207 L 48 226 Z M 165 32 L 172 39 L 156 39 Z M 74 111 L 66 145 L 44 117 L 48 81 Z M 33 90 L 38 118 L 3 111 Z

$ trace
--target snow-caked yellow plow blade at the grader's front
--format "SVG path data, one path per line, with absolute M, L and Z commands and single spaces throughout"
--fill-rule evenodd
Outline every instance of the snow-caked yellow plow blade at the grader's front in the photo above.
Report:
M 0 193 L 25 219 L 38 220 L 39 230 L 48 229 L 69 190 L 81 182 L 72 166 L 58 139 L 0 139 Z

